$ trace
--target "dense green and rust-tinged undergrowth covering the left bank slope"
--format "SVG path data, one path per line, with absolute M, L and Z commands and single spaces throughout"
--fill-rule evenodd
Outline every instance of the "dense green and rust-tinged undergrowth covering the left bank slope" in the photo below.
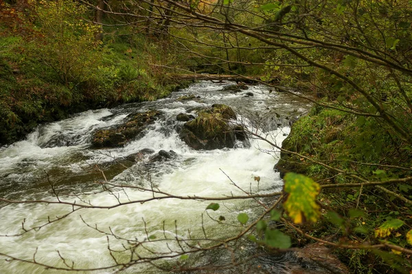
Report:
M 0 145 L 38 123 L 133 101 L 150 101 L 185 83 L 165 76 L 161 47 L 144 34 L 96 40 L 86 8 L 41 2 L 16 11 L 2 3 L 0 23 Z

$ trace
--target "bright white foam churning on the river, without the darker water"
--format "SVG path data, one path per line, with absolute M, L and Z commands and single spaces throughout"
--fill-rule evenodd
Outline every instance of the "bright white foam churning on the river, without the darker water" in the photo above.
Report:
M 220 103 L 222 97 L 229 101 L 236 99 L 241 103 L 242 96 L 220 95 L 220 89 L 223 86 L 225 85 L 201 82 L 187 90 L 183 90 L 183 92 L 172 95 L 172 97 L 179 97 L 182 94 L 187 94 L 187 92 L 196 92 L 196 95 L 204 96 L 205 99 L 209 100 L 207 104 Z M 256 91 L 254 88 L 251 89 Z M 208 95 L 208 92 L 211 92 L 211 96 Z M 260 90 L 257 89 L 256 92 L 260 92 Z M 260 101 L 265 96 L 259 93 L 253 97 L 253 101 Z M 251 139 L 251 147 L 249 148 L 195 151 L 187 147 L 174 130 L 174 124 L 169 124 L 168 121 L 173 120 L 176 114 L 186 112 L 187 107 L 198 105 L 205 105 L 205 103 L 195 101 L 170 103 L 170 100 L 160 100 L 158 109 L 163 112 L 163 119 L 159 119 L 150 125 L 143 137 L 129 142 L 125 147 L 115 149 L 87 149 L 89 146 L 88 140 L 93 130 L 117 125 L 117 123 L 123 121 L 127 115 L 125 113 L 111 117 L 110 115 L 113 114 L 111 110 L 89 111 L 72 119 L 45 125 L 30 134 L 26 140 L 0 148 L 0 176 L 7 175 L 6 177 L 12 182 L 18 182 L 19 180 L 25 182 L 30 179 L 30 176 L 36 174 L 36 169 L 41 166 L 47 167 L 50 164 L 59 165 L 62 169 L 66 168 L 80 173 L 82 164 L 67 160 L 73 157 L 73 153 L 82 153 L 87 158 L 87 164 L 95 164 L 98 162 L 110 163 L 113 158 L 122 159 L 130 154 L 137 153 L 141 149 L 149 148 L 154 149 L 156 152 L 161 149 L 165 151 L 173 150 L 178 156 L 169 162 L 155 163 L 153 169 L 143 173 L 140 173 L 138 170 L 139 163 L 136 163 L 129 169 L 117 174 L 110 182 L 117 184 L 130 182 L 131 186 L 150 188 L 148 182 L 148 177 L 150 177 L 151 184 L 155 186 L 155 189 L 181 197 L 245 195 L 239 188 L 259 193 L 279 190 L 282 181 L 278 173 L 273 171 L 279 152 L 264 140 Z M 237 108 L 242 108 L 242 105 L 238 105 Z M 260 110 L 260 107 L 257 110 Z M 132 111 L 131 108 L 130 111 Z M 110 119 L 103 119 L 106 116 L 110 116 Z M 240 119 L 247 121 L 241 116 Z M 288 133 L 288 128 L 278 128 L 265 134 L 268 140 L 280 145 L 282 140 L 286 138 L 284 134 Z M 42 147 L 55 134 L 80 135 L 81 138 L 78 145 Z M 32 167 L 18 168 L 24 164 Z M 151 173 L 152 175 L 149 176 Z M 255 176 L 260 177 L 259 183 L 255 181 Z M 124 179 L 126 177 L 129 179 Z M 125 191 L 127 195 L 125 195 Z M 78 193 L 84 201 L 90 201 L 93 205 L 100 206 L 115 205 L 118 201 L 126 203 L 129 199 L 135 201 L 153 197 L 150 191 L 141 191 L 134 188 L 115 189 L 112 194 L 110 195 L 108 192 Z M 161 194 L 156 194 L 156 197 L 161 196 Z M 31 197 L 32 193 L 27 190 L 25 196 L 21 199 L 31 199 Z M 56 201 L 50 191 L 44 192 L 41 199 Z M 60 199 L 64 201 L 77 200 L 77 203 L 79 202 L 78 197 L 62 195 Z M 205 214 L 205 208 L 210 202 L 187 199 L 155 199 L 145 203 L 119 206 L 110 210 L 79 210 L 70 214 L 66 219 L 42 227 L 38 231 L 27 232 L 23 236 L 0 236 L 0 249 L 1 253 L 32 260 L 33 254 L 38 248 L 36 260 L 55 266 L 63 266 L 56 250 L 59 250 L 65 258 L 76 262 L 77 267 L 108 266 L 113 264 L 113 260 L 107 250 L 106 235 L 91 227 L 97 225 L 98 229 L 104 232 L 112 231 L 124 238 L 145 240 L 148 234 L 156 235 L 157 238 L 162 238 L 163 234 L 170 236 L 170 238 L 175 237 L 174 223 L 177 221 L 177 234 L 179 237 L 187 237 L 188 230 L 190 230 L 192 236 L 202 235 L 201 214 Z M 227 223 L 237 223 L 236 216 L 240 210 L 245 210 L 251 216 L 256 214 L 255 210 L 251 210 L 251 205 L 256 205 L 253 201 L 230 200 L 219 203 L 221 206 L 217 212 L 209 212 L 209 210 L 208 213 L 214 218 L 218 218 L 220 215 L 225 216 Z M 70 206 L 47 205 L 45 203 L 21 203 L 4 206 L 0 208 L 0 234 L 21 233 L 23 219 L 25 219 L 25 227 L 30 228 L 47 223 L 49 216 L 53 220 L 56 216 L 69 213 L 71 209 Z M 80 215 L 91 227 L 87 227 L 83 223 Z M 165 231 L 163 231 L 163 221 Z M 207 233 L 216 237 L 231 234 L 231 229 L 217 225 L 215 221 L 207 216 L 204 219 L 204 225 Z M 148 234 L 146 234 L 146 231 Z M 127 244 L 122 240 L 115 239 L 113 236 L 110 236 L 109 239 L 113 248 L 120 249 L 122 243 Z M 164 241 L 150 242 L 149 246 L 152 250 L 159 252 L 168 251 L 169 247 L 179 250 L 179 246 L 173 241 L 168 242 L 168 245 Z M 144 253 L 144 251 L 141 252 Z M 119 260 L 127 259 L 128 254 L 119 256 Z M 5 261 L 0 262 L 0 269 L 1 273 L 51 273 L 47 269 L 31 264 L 8 263 Z M 137 269 L 141 273 L 149 271 L 147 266 L 141 266 Z M 111 271 L 100 271 L 99 273 L 111 273 Z

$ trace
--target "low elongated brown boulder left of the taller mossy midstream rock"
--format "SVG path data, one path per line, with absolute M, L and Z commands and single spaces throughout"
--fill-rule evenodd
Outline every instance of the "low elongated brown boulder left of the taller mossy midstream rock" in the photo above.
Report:
M 126 123 L 115 128 L 100 129 L 93 134 L 91 144 L 94 148 L 122 147 L 138 135 L 160 116 L 157 110 L 137 112 L 126 117 Z

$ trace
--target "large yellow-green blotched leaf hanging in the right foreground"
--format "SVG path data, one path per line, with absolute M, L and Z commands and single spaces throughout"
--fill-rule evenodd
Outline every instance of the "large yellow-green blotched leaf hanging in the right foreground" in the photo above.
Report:
M 294 223 L 310 221 L 315 223 L 321 216 L 316 202 L 321 187 L 309 177 L 296 173 L 286 173 L 284 191 L 288 193 L 284 209 Z

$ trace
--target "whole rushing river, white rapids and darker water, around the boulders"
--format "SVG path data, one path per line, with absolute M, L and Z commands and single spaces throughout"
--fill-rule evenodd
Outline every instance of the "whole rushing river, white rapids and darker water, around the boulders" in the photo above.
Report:
M 288 120 L 276 117 L 297 116 L 307 108 L 297 101 L 291 102 L 286 95 L 270 95 L 262 86 L 251 86 L 245 92 L 252 91 L 254 96 L 244 97 L 245 92 L 221 92 L 225 85 L 227 84 L 201 82 L 174 92 L 168 99 L 122 105 L 111 110 L 83 112 L 71 119 L 38 127 L 26 140 L 0 148 L 1 197 L 56 201 L 50 182 L 54 184 L 62 201 L 78 202 L 82 199 L 95 206 L 110 206 L 119 201 L 152 197 L 151 192 L 135 188 L 97 191 L 102 188 L 93 182 L 101 182 L 103 175 L 93 170 L 96 164 L 108 176 L 110 183 L 149 188 L 150 181 L 152 186 L 172 195 L 223 197 L 244 195 L 239 188 L 260 193 L 278 190 L 282 181 L 273 171 L 278 152 L 268 142 L 252 138 L 249 148 L 239 146 L 236 149 L 195 151 L 180 140 L 175 127 L 182 122 L 176 121 L 176 114 L 190 112 L 192 108 L 211 103 L 225 103 L 236 110 L 243 123 L 280 145 L 289 133 Z M 176 100 L 182 95 L 190 94 L 200 96 L 201 99 L 183 102 Z M 117 125 L 124 121 L 127 114 L 136 110 L 144 112 L 150 109 L 160 110 L 162 118 L 150 125 L 139 140 L 122 148 L 89 149 L 91 134 L 95 129 Z M 177 153 L 177 158 L 149 166 L 144 165 L 147 157 L 128 166 L 116 162 L 146 148 L 156 152 L 161 149 L 173 150 Z M 260 176 L 259 184 L 253 179 L 255 176 Z M 0 253 L 24 260 L 33 260 L 36 254 L 36 262 L 64 267 L 59 251 L 68 260 L 68 264 L 76 262 L 77 268 L 104 267 L 113 264 L 107 248 L 108 239 L 111 249 L 121 249 L 122 244 L 127 245 L 127 242 L 114 236 L 107 237 L 102 232 L 132 240 L 145 240 L 148 235 L 162 238 L 165 234 L 170 238 L 176 235 L 187 238 L 188 231 L 191 235 L 201 235 L 201 214 L 209 203 L 210 201 L 155 199 L 110 210 L 83 209 L 56 223 L 23 234 L 23 220 L 25 229 L 30 229 L 47 223 L 48 218 L 54 220 L 56 216 L 69 213 L 71 206 L 3 203 L 0 204 Z M 220 205 L 217 212 L 208 213 L 214 218 L 225 216 L 227 223 L 236 223 L 239 212 L 247 212 L 250 216 L 260 212 L 253 209 L 255 203 L 251 201 L 230 200 L 220 202 Z M 92 227 L 98 227 L 101 232 Z M 230 236 L 238 232 L 235 228 L 231 231 L 231 228 L 222 227 L 208 217 L 204 219 L 204 227 L 207 233 L 214 236 Z M 14 234 L 21 236 L 12 236 Z M 157 252 L 167 252 L 169 249 L 179 251 L 176 242 L 168 242 L 167 246 L 165 241 L 159 240 L 147 247 Z M 116 256 L 122 261 L 127 259 L 128 254 L 120 253 Z M 1 273 L 56 273 L 34 264 L 5 260 L 0 261 L 0 269 Z M 150 268 L 143 265 L 133 268 L 130 273 L 139 271 L 149 273 Z M 111 273 L 111 270 L 99 273 Z

